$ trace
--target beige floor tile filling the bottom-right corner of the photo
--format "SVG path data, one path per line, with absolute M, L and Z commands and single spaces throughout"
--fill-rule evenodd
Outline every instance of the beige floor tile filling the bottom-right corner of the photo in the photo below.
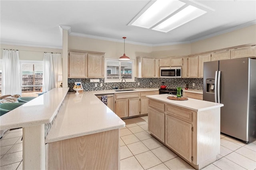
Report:
M 242 156 L 236 152 L 232 152 L 225 156 L 228 160 L 231 160 L 232 162 L 235 162 L 236 164 L 242 166 L 243 168 L 246 168 L 248 170 L 254 170 L 256 169 L 256 162 L 246 158 L 245 156 Z

